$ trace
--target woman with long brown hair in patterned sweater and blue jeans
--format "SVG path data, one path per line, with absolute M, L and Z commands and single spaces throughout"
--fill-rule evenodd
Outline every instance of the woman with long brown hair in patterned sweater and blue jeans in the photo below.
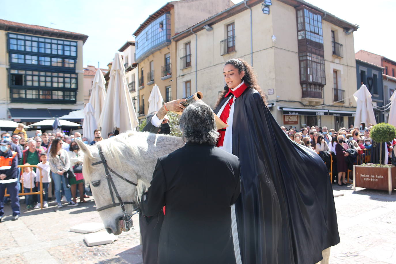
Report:
M 63 141 L 61 138 L 53 139 L 49 150 L 49 168 L 51 169 L 52 179 L 55 183 L 55 198 L 58 208 L 63 207 L 61 203 L 61 188 L 65 190 L 67 206 L 76 206 L 78 203 L 72 201 L 70 188 L 66 186 L 65 173 L 70 169 L 70 158 L 67 151 L 62 148 Z

